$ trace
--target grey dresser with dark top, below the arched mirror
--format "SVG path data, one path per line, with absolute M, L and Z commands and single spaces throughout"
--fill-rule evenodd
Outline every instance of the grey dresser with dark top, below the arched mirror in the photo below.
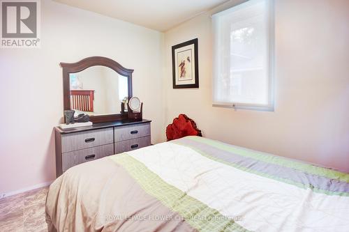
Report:
M 151 145 L 150 123 L 124 119 L 65 130 L 54 127 L 56 176 L 77 164 Z

